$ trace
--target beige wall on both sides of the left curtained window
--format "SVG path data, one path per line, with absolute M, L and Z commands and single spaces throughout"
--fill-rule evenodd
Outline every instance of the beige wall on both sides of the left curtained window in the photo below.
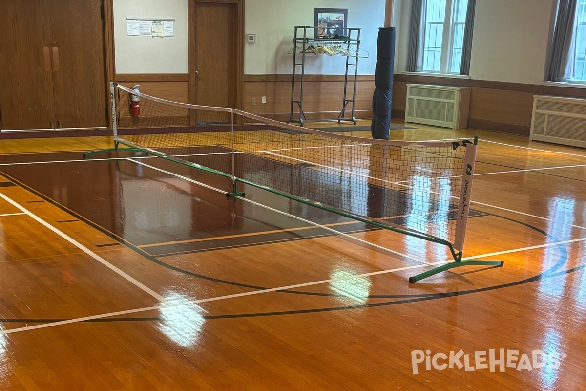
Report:
M 470 77 L 536 84 L 543 81 L 553 0 L 477 0 Z M 411 0 L 396 2 L 401 15 L 395 73 L 404 72 Z

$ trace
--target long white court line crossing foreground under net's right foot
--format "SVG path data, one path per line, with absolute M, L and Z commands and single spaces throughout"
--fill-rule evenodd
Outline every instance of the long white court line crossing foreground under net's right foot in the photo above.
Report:
M 510 253 L 515 253 L 515 252 L 519 252 L 519 251 L 532 250 L 532 249 L 536 249 L 536 248 L 557 246 L 558 244 L 564 244 L 564 243 L 583 242 L 585 240 L 586 240 L 586 238 L 566 240 L 565 242 L 558 242 L 558 243 L 548 243 L 548 244 L 543 244 L 541 246 L 523 247 L 522 249 L 499 251 L 498 253 L 489 253 L 489 254 L 476 255 L 476 256 L 472 256 L 472 257 L 466 257 L 463 260 L 485 258 L 485 257 L 497 255 L 497 254 L 498 255 L 510 254 Z M 453 260 L 442 261 L 442 262 L 432 263 L 429 266 L 438 266 L 441 264 L 453 263 L 453 262 L 454 262 Z M 32 331 L 32 330 L 40 329 L 40 328 L 56 327 L 56 326 L 60 326 L 60 325 L 79 323 L 79 322 L 84 322 L 84 321 L 91 321 L 94 319 L 103 319 L 103 318 L 110 318 L 110 317 L 115 317 L 115 316 L 120 316 L 120 315 L 136 314 L 137 312 L 156 311 L 156 310 L 161 310 L 162 308 L 182 307 L 184 305 L 194 305 L 194 304 L 200 304 L 203 302 L 213 302 L 213 301 L 219 301 L 219 300 L 226 300 L 226 299 L 230 299 L 230 298 L 258 295 L 258 294 L 263 294 L 263 293 L 271 293 L 271 292 L 278 292 L 278 291 L 284 291 L 284 290 L 292 290 L 292 289 L 297 289 L 297 288 L 309 287 L 312 285 L 330 284 L 330 283 L 336 283 L 338 281 L 352 280 L 353 278 L 379 276 L 380 274 L 389 274 L 389 273 L 396 273 L 397 271 L 413 270 L 413 269 L 422 268 L 425 266 L 428 266 L 428 265 L 405 266 L 405 267 L 399 267 L 399 268 L 394 268 L 394 269 L 389 269 L 389 270 L 373 271 L 372 273 L 356 274 L 355 276 L 332 278 L 330 280 L 321 280 L 321 281 L 314 281 L 311 283 L 288 285 L 286 287 L 268 288 L 268 289 L 263 289 L 263 290 L 258 290 L 258 291 L 250 291 L 250 292 L 237 293 L 237 294 L 231 294 L 231 295 L 209 297 L 209 298 L 205 298 L 205 299 L 185 301 L 185 302 L 180 302 L 180 303 L 176 303 L 176 304 L 154 305 L 152 307 L 135 308 L 133 310 L 108 312 L 106 314 L 91 315 L 89 317 L 83 317 L 83 318 L 67 319 L 67 320 L 59 321 L 59 322 L 45 323 L 45 324 L 34 325 L 34 326 L 25 326 L 25 327 L 13 328 L 13 329 L 9 329 L 9 330 L 0 330 L 0 335 L 13 334 L 15 332 L 21 332 L 21 331 Z

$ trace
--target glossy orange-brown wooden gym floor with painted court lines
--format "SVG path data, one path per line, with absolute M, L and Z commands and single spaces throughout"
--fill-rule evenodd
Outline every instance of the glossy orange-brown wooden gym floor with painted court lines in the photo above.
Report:
M 226 199 L 158 158 L 81 159 L 107 137 L 1 140 L 0 389 L 586 389 L 586 151 L 391 132 L 475 135 L 465 256 L 505 266 L 417 284 L 414 259 L 444 248 L 260 190 L 285 214 Z M 489 349 L 511 366 L 482 368 Z M 468 361 L 426 369 L 426 351 Z

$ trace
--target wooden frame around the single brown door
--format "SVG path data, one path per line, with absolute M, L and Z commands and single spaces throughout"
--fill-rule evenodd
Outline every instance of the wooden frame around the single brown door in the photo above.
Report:
M 110 0 L 111 1 L 111 0 Z M 236 107 L 242 108 L 242 94 L 244 87 L 244 0 L 188 0 L 188 51 L 189 51 L 189 103 L 195 102 L 195 4 L 197 3 L 224 3 L 236 5 Z

